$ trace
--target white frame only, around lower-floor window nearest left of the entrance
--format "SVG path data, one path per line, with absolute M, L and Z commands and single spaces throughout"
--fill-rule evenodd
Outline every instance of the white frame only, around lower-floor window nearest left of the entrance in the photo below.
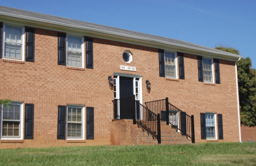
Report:
M 82 138 L 68 138 L 68 107 L 82 108 L 82 128 L 81 135 Z M 84 140 L 85 139 L 85 105 L 67 104 L 66 110 L 66 138 L 67 140 Z

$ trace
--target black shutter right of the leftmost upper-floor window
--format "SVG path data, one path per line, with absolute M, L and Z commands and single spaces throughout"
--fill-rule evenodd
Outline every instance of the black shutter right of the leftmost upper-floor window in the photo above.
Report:
M 35 29 L 26 27 L 26 61 L 35 61 Z

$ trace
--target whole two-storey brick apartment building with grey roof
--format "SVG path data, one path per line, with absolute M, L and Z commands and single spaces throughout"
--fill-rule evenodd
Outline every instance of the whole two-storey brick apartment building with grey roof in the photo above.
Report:
M 0 57 L 0 148 L 240 141 L 240 55 L 0 6 Z

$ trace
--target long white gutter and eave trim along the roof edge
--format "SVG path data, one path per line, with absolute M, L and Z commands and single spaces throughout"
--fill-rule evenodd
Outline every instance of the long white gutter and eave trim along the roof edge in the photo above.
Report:
M 164 41 L 159 41 L 159 40 L 154 40 L 154 39 L 149 39 L 149 38 L 142 38 L 142 37 L 138 37 L 138 36 L 132 36 L 132 35 L 127 35 L 127 34 L 122 34 L 122 33 L 115 33 L 115 32 L 112 32 L 112 31 L 99 30 L 99 29 L 95 29 L 95 28 L 82 27 L 82 26 L 77 26 L 77 25 L 72 25 L 72 24 L 67 24 L 67 23 L 54 22 L 54 21 L 49 21 L 49 20 L 44 20 L 44 19 L 36 19 L 36 18 L 33 18 L 33 17 L 20 16 L 20 15 L 11 14 L 11 13 L 0 12 L 0 15 L 9 16 L 9 17 L 16 17 L 16 18 L 19 18 L 19 19 L 27 19 L 27 20 L 32 20 L 32 21 L 36 21 L 36 22 L 49 23 L 49 24 L 53 24 L 53 25 L 60 25 L 60 26 L 64 26 L 64 27 L 78 28 L 78 29 L 88 30 L 88 31 L 93 31 L 93 32 L 98 32 L 98 33 L 112 34 L 114 36 L 123 36 L 123 37 L 127 37 L 127 38 L 132 38 L 132 39 L 139 39 L 139 40 L 142 40 L 142 41 L 155 42 L 155 43 L 159 43 L 159 44 L 166 44 L 166 45 L 171 45 L 171 46 L 176 46 L 176 47 L 182 47 L 182 48 L 185 48 L 185 49 L 192 49 L 192 50 L 197 50 L 197 51 L 209 52 L 209 53 L 214 53 L 214 54 L 218 54 L 218 55 L 226 55 L 226 56 L 231 56 L 231 57 L 234 57 L 234 58 L 242 58 L 243 57 L 241 55 L 230 54 L 228 52 L 227 53 L 220 53 L 220 52 L 216 52 L 216 51 L 212 51 L 212 50 L 200 49 L 200 48 L 191 47 L 191 46 L 182 45 L 182 44 L 175 44 L 175 43 L 171 43 L 171 42 L 164 42 Z

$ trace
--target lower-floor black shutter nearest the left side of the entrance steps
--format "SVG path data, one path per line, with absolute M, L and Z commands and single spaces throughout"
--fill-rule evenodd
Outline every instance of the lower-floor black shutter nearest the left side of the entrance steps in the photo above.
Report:
M 94 139 L 94 107 L 86 107 L 86 139 Z

